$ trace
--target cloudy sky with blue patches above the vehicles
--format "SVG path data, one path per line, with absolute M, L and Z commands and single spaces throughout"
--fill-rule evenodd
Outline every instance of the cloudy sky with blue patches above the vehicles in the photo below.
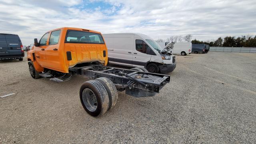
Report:
M 0 0 L 0 33 L 18 34 L 23 45 L 60 27 L 155 40 L 256 35 L 256 0 Z

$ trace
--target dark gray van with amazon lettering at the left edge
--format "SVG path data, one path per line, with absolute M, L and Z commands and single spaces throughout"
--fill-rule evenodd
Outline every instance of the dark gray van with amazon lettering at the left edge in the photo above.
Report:
M 23 60 L 22 47 L 17 34 L 0 34 L 0 60 Z

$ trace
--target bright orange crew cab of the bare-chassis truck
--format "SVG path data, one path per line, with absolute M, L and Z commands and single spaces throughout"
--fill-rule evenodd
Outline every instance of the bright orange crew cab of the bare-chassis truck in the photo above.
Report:
M 106 66 L 108 57 L 100 32 L 65 27 L 46 32 L 39 41 L 35 39 L 28 61 L 38 72 L 69 73 L 69 68 L 84 62 Z

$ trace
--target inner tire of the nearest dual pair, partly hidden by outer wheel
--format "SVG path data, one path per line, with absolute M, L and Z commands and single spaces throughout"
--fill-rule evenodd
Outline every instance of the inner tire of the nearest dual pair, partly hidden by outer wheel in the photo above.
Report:
M 100 83 L 102 83 L 104 85 L 104 87 L 106 88 L 106 90 L 108 92 L 108 98 L 109 98 L 108 110 L 112 109 L 116 105 L 116 102 L 118 99 L 118 92 L 116 90 L 116 86 L 108 78 L 102 77 L 102 78 L 97 78 L 96 80 L 98 80 Z

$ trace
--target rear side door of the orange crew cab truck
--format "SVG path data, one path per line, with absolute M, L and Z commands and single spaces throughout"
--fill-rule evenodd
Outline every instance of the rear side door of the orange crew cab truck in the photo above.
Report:
M 47 59 L 47 65 L 45 65 L 48 68 L 54 69 L 54 70 L 62 70 L 63 64 L 60 64 L 63 60 L 63 58 L 60 60 L 60 56 L 62 53 L 59 50 L 59 39 L 60 39 L 60 32 L 61 30 L 55 30 L 52 31 L 49 38 L 49 44 L 45 48 L 45 54 Z M 62 49 L 63 50 L 63 49 Z

